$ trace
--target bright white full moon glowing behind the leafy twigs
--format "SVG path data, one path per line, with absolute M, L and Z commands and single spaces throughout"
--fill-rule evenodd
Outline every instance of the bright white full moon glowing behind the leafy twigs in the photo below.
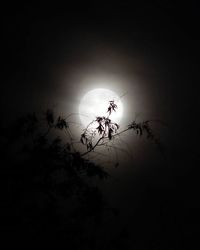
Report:
M 97 116 L 108 116 L 109 101 L 114 101 L 117 105 L 116 112 L 111 113 L 110 119 L 119 123 L 123 115 L 120 97 L 110 89 L 98 88 L 87 92 L 80 101 L 79 117 L 82 125 L 86 127 Z

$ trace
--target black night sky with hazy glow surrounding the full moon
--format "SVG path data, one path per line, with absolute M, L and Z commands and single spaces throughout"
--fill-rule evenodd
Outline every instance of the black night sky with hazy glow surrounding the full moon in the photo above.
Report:
M 166 155 L 133 135 L 125 138 L 134 161 L 120 155 L 122 164 L 108 168 L 112 178 L 97 181 L 120 215 L 108 226 L 102 219 L 91 249 L 192 249 L 200 224 L 199 7 L 196 1 L 124 2 L 2 8 L 1 138 L 26 112 L 78 112 L 93 88 L 127 93 L 123 125 L 137 113 L 167 123 L 159 129 Z M 9 204 L 3 206 L 15 210 Z M 4 209 L 1 216 L 10 214 Z M 5 225 L 7 246 L 12 238 L 15 247 L 32 244 Z M 121 231 L 127 233 L 116 243 Z M 115 243 L 103 244 L 109 235 Z

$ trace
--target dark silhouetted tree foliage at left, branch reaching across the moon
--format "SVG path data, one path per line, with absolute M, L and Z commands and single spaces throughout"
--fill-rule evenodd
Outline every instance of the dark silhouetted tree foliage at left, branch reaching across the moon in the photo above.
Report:
M 95 184 L 96 178 L 106 180 L 110 175 L 84 156 L 97 146 L 108 147 L 116 136 L 130 130 L 138 136 L 146 134 L 163 152 L 151 121 L 133 121 L 120 131 L 111 120 L 112 112 L 117 112 L 114 101 L 109 102 L 107 116 L 96 117 L 83 130 L 84 153 L 74 146 L 69 122 L 50 109 L 42 117 L 27 114 L 5 130 L 1 165 L 8 185 L 4 213 L 9 219 L 4 226 L 12 228 L 12 237 L 20 244 L 96 249 L 102 217 L 117 216 L 118 211 L 106 203 Z

